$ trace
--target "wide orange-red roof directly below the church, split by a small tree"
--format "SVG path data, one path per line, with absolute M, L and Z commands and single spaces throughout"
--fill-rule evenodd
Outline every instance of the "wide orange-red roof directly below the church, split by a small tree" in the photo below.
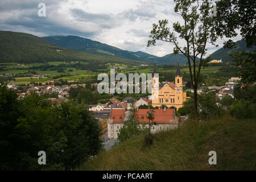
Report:
M 138 109 L 136 114 L 139 123 L 148 123 L 147 111 L 150 111 L 150 109 Z M 174 109 L 166 109 L 166 111 L 164 109 L 155 109 L 154 111 L 155 118 L 150 122 L 169 123 L 171 119 L 174 120 Z

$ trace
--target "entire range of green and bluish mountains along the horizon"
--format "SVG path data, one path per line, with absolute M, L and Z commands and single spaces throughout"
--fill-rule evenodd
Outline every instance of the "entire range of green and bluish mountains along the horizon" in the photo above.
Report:
M 81 60 L 92 63 L 131 63 L 131 64 L 187 64 L 183 54 L 170 53 L 163 57 L 154 56 L 142 51 L 132 52 L 109 46 L 79 36 L 38 36 L 10 31 L 0 31 L 0 62 L 39 63 L 44 61 Z M 210 60 L 222 59 L 230 61 L 229 53 L 246 50 L 243 40 L 236 42 L 233 49 L 220 48 L 210 55 Z

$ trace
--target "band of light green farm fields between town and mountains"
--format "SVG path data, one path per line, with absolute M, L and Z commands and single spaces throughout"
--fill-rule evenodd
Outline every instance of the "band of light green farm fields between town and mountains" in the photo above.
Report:
M 38 78 L 36 77 L 30 77 L 33 74 L 32 73 L 28 73 L 28 71 L 32 71 L 35 72 L 39 75 L 43 75 L 43 74 L 47 74 L 49 75 L 48 77 L 42 77 L 39 79 L 39 82 L 48 82 L 48 81 L 52 81 L 52 80 L 79 80 L 81 78 L 87 80 L 87 79 L 92 79 L 97 77 L 98 74 L 100 73 L 110 73 L 110 69 L 113 69 L 113 63 L 108 63 L 106 65 L 105 69 L 94 69 L 93 72 L 91 70 L 85 70 L 85 69 L 77 69 L 78 67 L 75 68 L 75 63 L 65 63 L 62 61 L 53 61 L 53 62 L 48 62 L 47 64 L 43 64 L 43 63 L 34 63 L 34 64 L 25 64 L 25 65 L 17 65 L 18 63 L 1 63 L 0 64 L 0 75 L 3 75 L 4 73 L 13 73 L 15 75 L 21 75 L 21 77 L 16 77 L 14 80 L 15 84 L 30 84 L 30 82 L 38 82 Z M 82 65 L 86 65 L 88 63 L 84 63 L 81 62 Z M 51 70 L 47 70 L 43 71 L 40 69 L 40 67 L 42 66 L 47 66 L 47 65 L 53 65 L 55 66 L 55 68 L 59 69 L 58 66 L 60 66 L 60 68 L 63 69 L 62 72 L 59 72 L 57 70 L 51 71 Z M 67 66 L 65 66 L 67 65 Z M 73 67 L 74 65 L 74 67 Z M 130 66 L 126 65 L 126 64 L 114 64 L 115 66 L 127 66 L 127 68 L 115 68 L 115 75 L 117 75 L 118 73 L 152 73 L 153 72 L 153 68 L 152 65 L 147 66 L 147 67 L 141 67 L 141 66 Z M 38 67 L 38 68 L 37 68 Z M 201 73 L 216 73 L 218 72 L 218 68 L 219 67 L 204 67 L 201 68 Z M 158 73 L 161 72 L 172 72 L 175 73 L 176 72 L 176 67 L 172 67 L 172 68 L 157 68 Z M 181 66 L 181 72 L 187 72 L 189 73 L 189 69 L 188 67 L 184 67 Z M 27 74 L 26 74 L 27 73 Z M 24 75 L 22 77 L 22 75 Z M 30 76 L 29 76 L 30 75 Z M 61 76 L 63 75 L 63 76 Z M 57 78 L 54 78 L 56 77 Z

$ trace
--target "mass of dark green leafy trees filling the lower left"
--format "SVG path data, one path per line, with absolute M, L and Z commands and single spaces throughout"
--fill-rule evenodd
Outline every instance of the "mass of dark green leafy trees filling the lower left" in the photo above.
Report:
M 101 150 L 101 128 L 84 105 L 52 106 L 38 94 L 16 100 L 0 89 L 2 170 L 76 169 Z M 46 165 L 38 164 L 39 151 L 46 151 Z

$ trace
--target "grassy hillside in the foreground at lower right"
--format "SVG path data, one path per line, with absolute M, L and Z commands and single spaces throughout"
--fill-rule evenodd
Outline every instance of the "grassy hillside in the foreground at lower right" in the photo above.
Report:
M 155 137 L 149 148 L 143 147 L 143 137 L 118 144 L 80 170 L 256 169 L 255 119 L 189 122 Z M 209 165 L 209 151 L 217 152 L 217 165 Z

